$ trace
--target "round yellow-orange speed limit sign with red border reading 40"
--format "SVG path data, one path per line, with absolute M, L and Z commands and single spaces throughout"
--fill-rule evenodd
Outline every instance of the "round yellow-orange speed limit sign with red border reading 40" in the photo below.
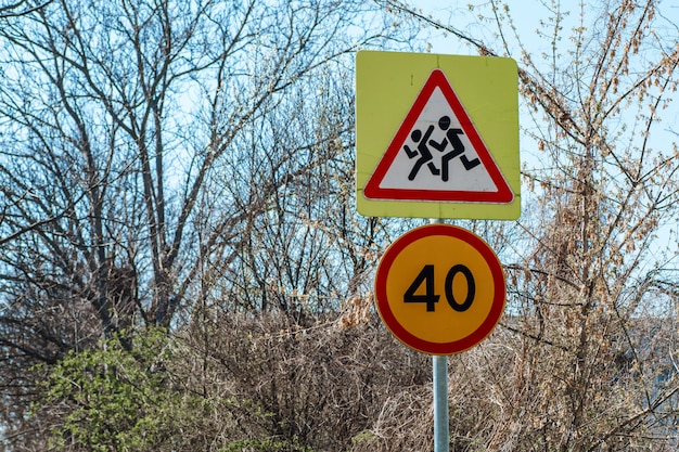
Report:
M 449 224 L 401 235 L 375 274 L 377 311 L 387 328 L 430 354 L 458 353 L 485 339 L 502 315 L 505 287 L 488 244 Z

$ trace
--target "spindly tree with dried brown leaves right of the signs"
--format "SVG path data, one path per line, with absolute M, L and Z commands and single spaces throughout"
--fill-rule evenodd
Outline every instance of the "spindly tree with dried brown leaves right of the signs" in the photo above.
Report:
M 594 11 L 547 2 L 536 41 L 511 5 L 491 1 L 472 11 L 494 41 L 388 3 L 483 55 L 514 56 L 526 101 L 527 208 L 517 228 L 497 231 L 511 293 L 504 332 L 462 358 L 502 365 L 486 373 L 476 361 L 467 389 L 483 390 L 471 418 L 481 409 L 486 419 L 451 441 L 460 450 L 672 450 L 679 282 L 676 231 L 666 225 L 679 216 L 679 154 L 653 135 L 667 135 L 662 112 L 679 82 L 676 26 L 655 1 Z

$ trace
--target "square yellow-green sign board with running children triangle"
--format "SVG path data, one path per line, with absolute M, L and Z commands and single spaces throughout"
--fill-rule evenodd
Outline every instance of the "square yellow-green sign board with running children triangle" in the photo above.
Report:
M 361 215 L 521 215 L 513 60 L 361 51 L 356 70 Z

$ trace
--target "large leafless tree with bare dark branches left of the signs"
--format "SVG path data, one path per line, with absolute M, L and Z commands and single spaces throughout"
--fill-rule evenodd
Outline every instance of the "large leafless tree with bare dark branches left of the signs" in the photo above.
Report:
M 319 181 L 350 193 L 351 52 L 390 27 L 372 10 L 325 0 L 3 7 L 3 395 L 25 409 L 33 363 L 133 325 L 177 327 L 208 300 L 292 309 L 253 295 L 253 281 L 277 294 L 310 293 L 321 279 L 342 286 L 323 274 L 320 244 L 332 238 L 318 241 L 335 225 L 304 209 Z M 296 225 L 277 224 L 280 215 Z M 307 281 L 274 282 L 260 253 L 305 253 L 293 249 L 304 234 L 319 253 L 295 260 Z M 347 279 L 363 271 L 357 262 Z M 23 418 L 3 405 L 5 422 Z

